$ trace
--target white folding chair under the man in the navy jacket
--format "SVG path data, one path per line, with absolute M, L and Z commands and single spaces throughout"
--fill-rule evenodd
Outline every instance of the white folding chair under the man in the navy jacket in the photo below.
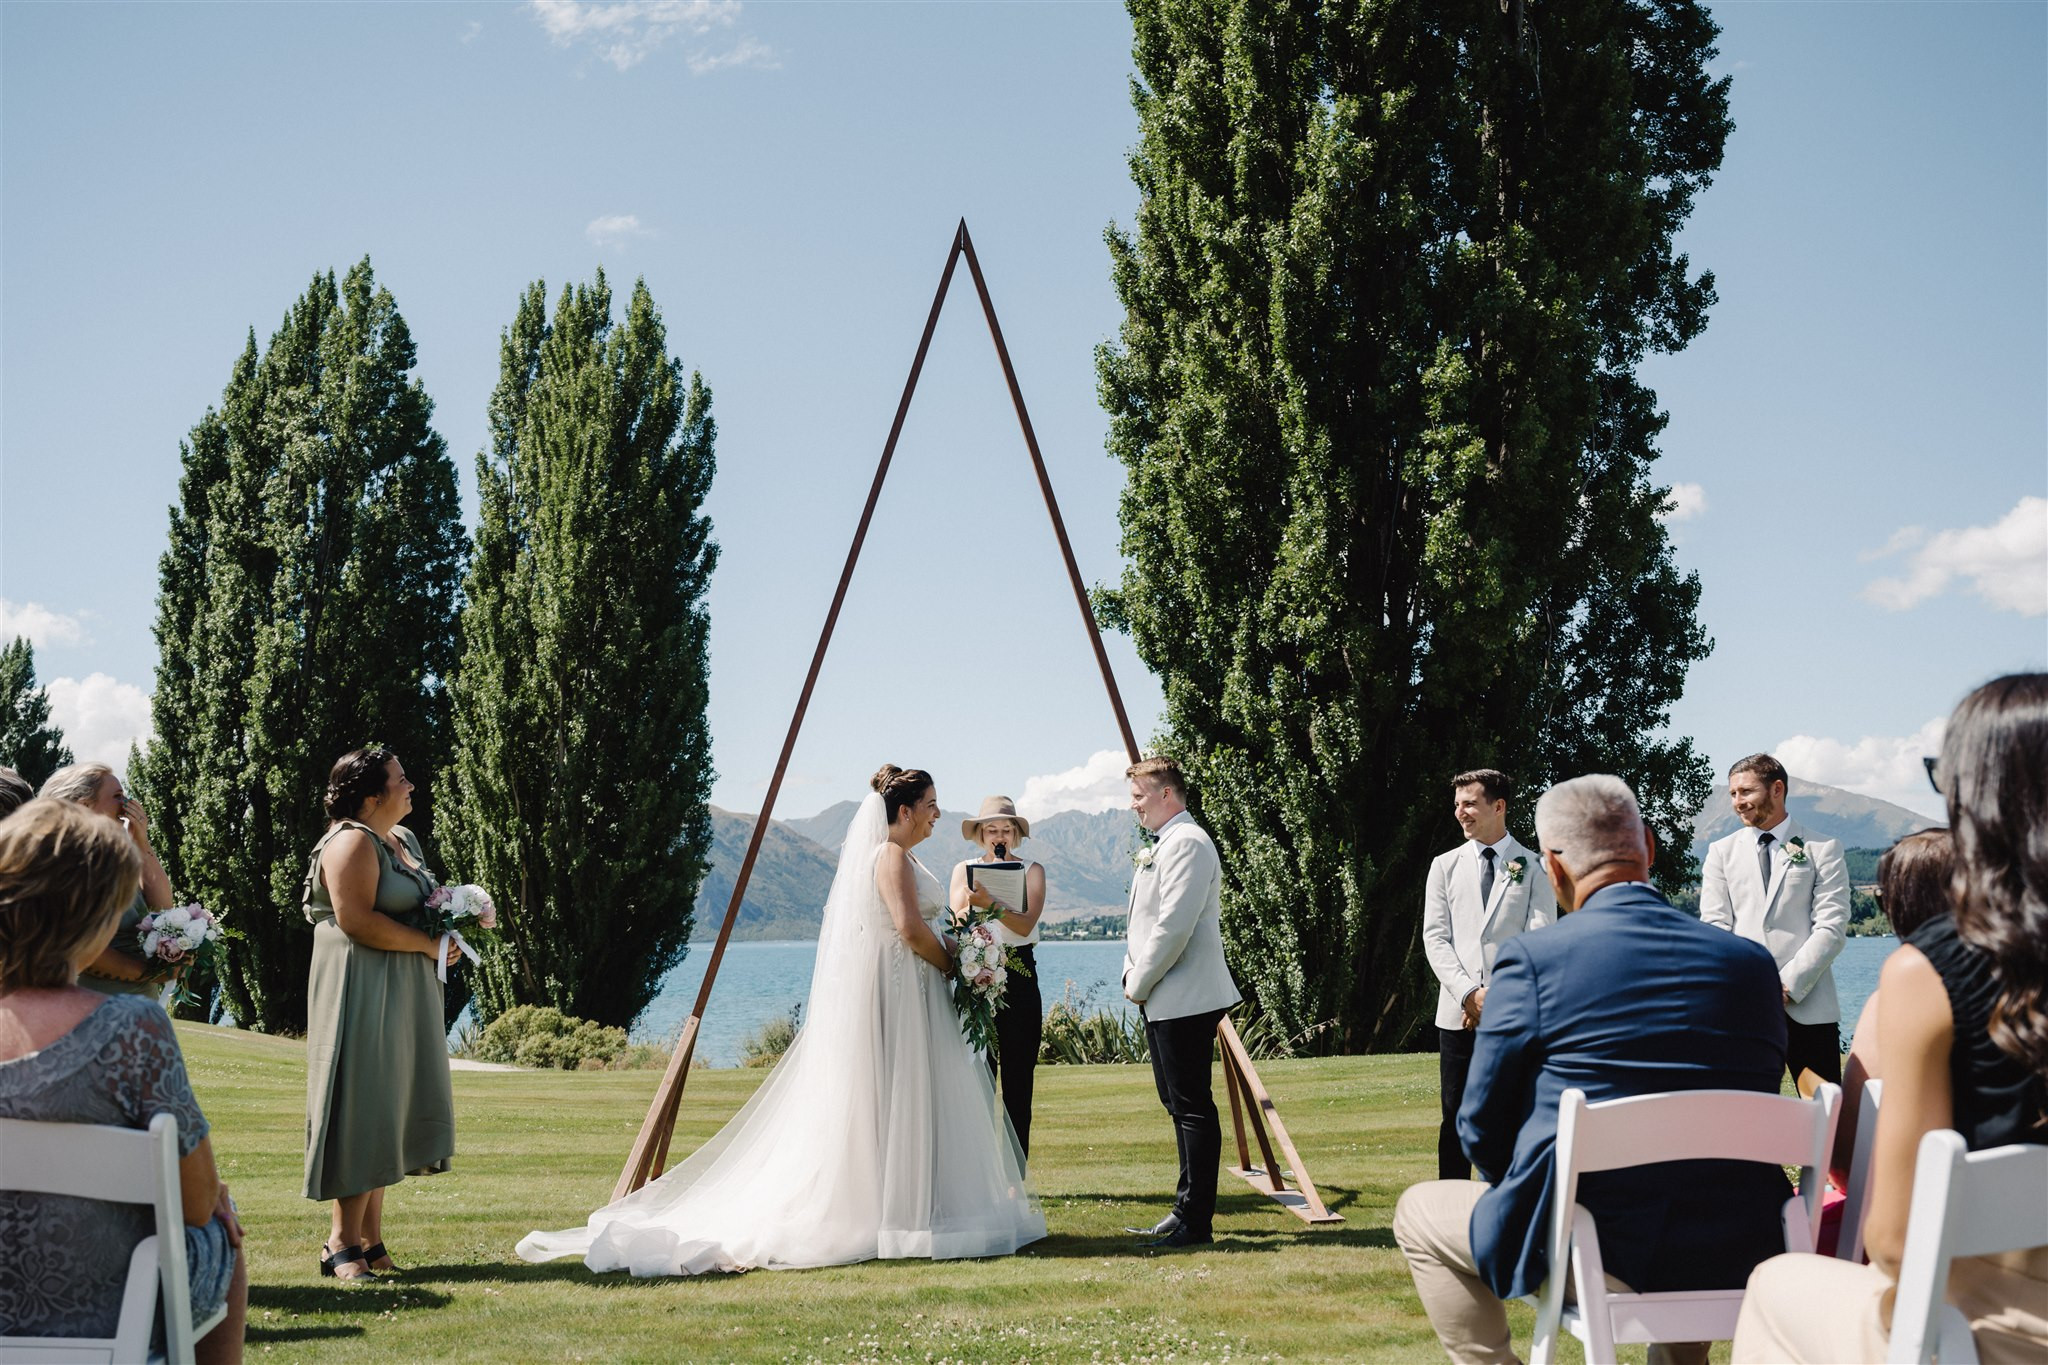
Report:
M 1536 1304 L 1534 1365 L 1556 1355 L 1565 1328 L 1585 1342 L 1587 1365 L 1612 1365 L 1616 1342 L 1724 1340 L 1735 1336 L 1741 1289 L 1673 1289 L 1620 1293 L 1608 1289 L 1599 1230 L 1579 1207 L 1579 1177 L 1667 1160 L 1759 1160 L 1800 1169 L 1800 1193 L 1786 1199 L 1786 1250 L 1812 1250 L 1821 1214 L 1821 1183 L 1835 1140 L 1839 1085 L 1812 1099 L 1759 1091 L 1673 1091 L 1587 1103 L 1585 1091 L 1565 1091 L 1556 1115 L 1554 1197 L 1550 1205 L 1550 1279 Z M 1577 1304 L 1565 1302 L 1565 1267 Z

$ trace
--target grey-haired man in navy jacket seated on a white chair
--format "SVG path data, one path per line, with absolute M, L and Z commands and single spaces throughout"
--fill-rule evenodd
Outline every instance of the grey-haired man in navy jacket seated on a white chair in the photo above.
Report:
M 1559 1097 L 1661 1091 L 1776 1095 L 1786 1025 L 1769 952 L 1671 909 L 1649 884 L 1655 839 L 1636 796 L 1604 774 L 1536 802 L 1559 909 L 1501 945 L 1458 1109 L 1481 1181 L 1413 1185 L 1395 1240 L 1452 1361 L 1516 1361 L 1503 1300 L 1550 1275 Z M 1616 1289 L 1739 1289 L 1784 1250 L 1790 1197 L 1776 1166 L 1663 1162 L 1579 1181 Z M 1565 1273 L 1565 1267 L 1554 1267 Z M 1706 1361 L 1706 1342 L 1651 1347 L 1651 1363 Z

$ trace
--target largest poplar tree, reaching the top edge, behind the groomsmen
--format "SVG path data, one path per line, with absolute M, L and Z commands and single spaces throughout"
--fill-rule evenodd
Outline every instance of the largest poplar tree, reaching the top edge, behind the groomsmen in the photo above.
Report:
M 1673 237 L 1729 82 L 1688 0 L 1130 0 L 1135 231 L 1098 356 L 1126 467 L 1104 616 L 1165 686 L 1225 935 L 1288 1029 L 1409 1042 L 1448 780 L 1634 784 L 1710 641 L 1651 477 L 1651 352 L 1706 323 Z

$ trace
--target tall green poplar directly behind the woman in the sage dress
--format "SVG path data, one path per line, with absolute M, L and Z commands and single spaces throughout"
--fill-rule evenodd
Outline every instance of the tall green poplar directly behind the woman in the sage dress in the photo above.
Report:
M 264 1031 L 305 1029 L 299 892 L 328 767 L 369 741 L 418 778 L 449 755 L 467 540 L 414 364 L 369 260 L 313 276 L 268 348 L 250 334 L 180 452 L 156 737 L 131 776 L 172 880 L 242 933 L 221 986 Z M 408 825 L 432 841 L 424 794 Z

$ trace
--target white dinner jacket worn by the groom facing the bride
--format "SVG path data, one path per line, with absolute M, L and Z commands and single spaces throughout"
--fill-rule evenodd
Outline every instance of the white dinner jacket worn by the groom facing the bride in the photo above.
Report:
M 1243 999 L 1223 962 L 1223 860 L 1186 810 L 1159 827 L 1151 857 L 1130 872 L 1124 997 L 1147 1019 L 1184 1019 Z

